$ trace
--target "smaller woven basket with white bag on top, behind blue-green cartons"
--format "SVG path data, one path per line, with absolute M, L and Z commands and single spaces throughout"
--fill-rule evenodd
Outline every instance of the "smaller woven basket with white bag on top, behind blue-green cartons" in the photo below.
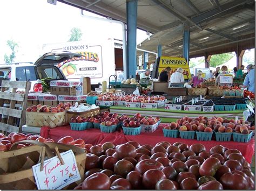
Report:
M 78 105 L 90 105 L 90 104 L 87 104 L 87 103 L 79 103 Z M 84 111 L 84 112 L 73 112 L 73 111 L 66 111 L 66 122 L 65 124 L 69 124 L 70 122 L 70 119 L 73 118 L 73 117 L 77 117 L 77 116 L 80 116 L 80 117 L 92 117 L 92 116 L 95 116 L 95 115 L 98 115 L 100 113 L 100 109 L 99 108 L 95 108 L 95 109 L 91 109 L 89 111 Z

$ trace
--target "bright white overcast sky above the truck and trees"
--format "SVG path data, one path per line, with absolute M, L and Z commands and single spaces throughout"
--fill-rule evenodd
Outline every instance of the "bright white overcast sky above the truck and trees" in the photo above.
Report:
M 70 30 L 82 30 L 82 40 L 91 38 L 116 38 L 122 40 L 122 25 L 84 18 L 80 9 L 61 2 L 52 5 L 47 0 L 0 1 L 0 63 L 4 54 L 10 54 L 7 40 L 18 43 L 16 62 L 36 61 L 43 44 L 65 43 Z M 100 17 L 84 11 L 84 15 Z M 145 31 L 137 30 L 137 44 L 147 38 Z

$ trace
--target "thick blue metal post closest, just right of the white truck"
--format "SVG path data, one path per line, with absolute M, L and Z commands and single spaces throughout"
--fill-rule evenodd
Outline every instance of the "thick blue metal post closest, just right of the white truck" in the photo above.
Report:
M 135 77 L 137 69 L 136 30 L 137 30 L 137 0 L 126 1 L 127 23 L 127 77 Z

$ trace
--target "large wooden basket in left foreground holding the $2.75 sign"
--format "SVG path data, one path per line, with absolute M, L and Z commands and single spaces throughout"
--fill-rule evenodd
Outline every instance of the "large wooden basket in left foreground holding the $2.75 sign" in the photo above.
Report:
M 16 148 L 19 143 L 36 144 L 33 146 Z M 57 149 L 56 149 L 57 148 Z M 83 148 L 59 143 L 40 143 L 34 140 L 17 142 L 11 151 L 0 154 L 0 188 L 1 189 L 37 189 L 32 166 L 44 161 L 44 154 L 48 158 L 59 155 L 59 152 L 72 150 L 76 157 L 81 180 L 71 183 L 63 189 L 73 189 L 84 180 L 86 153 Z M 44 152 L 45 151 L 45 152 Z M 65 161 L 64 161 L 65 162 Z

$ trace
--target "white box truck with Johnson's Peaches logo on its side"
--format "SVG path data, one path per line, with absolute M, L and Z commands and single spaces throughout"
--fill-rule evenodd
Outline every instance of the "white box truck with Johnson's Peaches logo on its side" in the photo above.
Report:
M 68 51 L 79 53 L 81 58 L 73 58 L 58 67 L 66 79 L 79 81 L 80 77 L 90 77 L 92 89 L 99 86 L 102 81 L 109 82 L 109 77 L 119 74 L 123 67 L 123 41 L 118 39 L 92 39 L 88 41 L 70 41 L 59 44 L 44 44 L 43 53 Z M 111 78 L 113 80 L 113 78 Z

